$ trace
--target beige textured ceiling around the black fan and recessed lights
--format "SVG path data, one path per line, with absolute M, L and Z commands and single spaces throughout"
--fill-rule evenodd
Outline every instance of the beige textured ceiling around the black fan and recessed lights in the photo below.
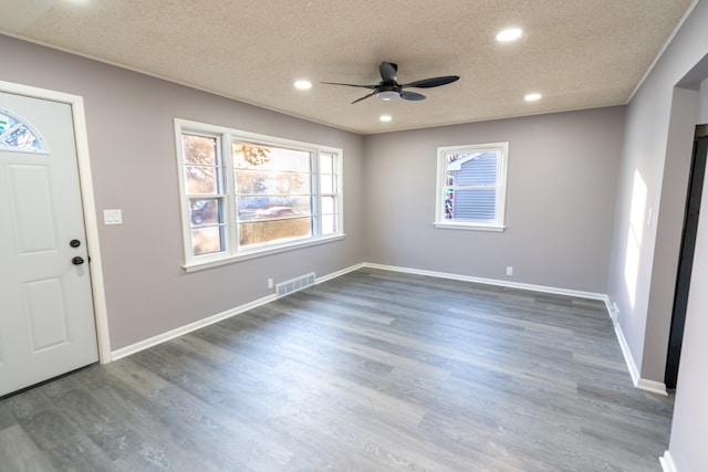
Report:
M 362 134 L 625 104 L 691 0 L 0 0 L 0 32 Z M 501 44 L 498 31 L 522 28 Z M 421 102 L 350 103 L 377 84 Z M 0 78 L 2 73 L 0 72 Z M 298 91 L 298 78 L 313 82 Z M 543 94 L 527 103 L 530 92 Z M 378 116 L 388 114 L 389 123 Z

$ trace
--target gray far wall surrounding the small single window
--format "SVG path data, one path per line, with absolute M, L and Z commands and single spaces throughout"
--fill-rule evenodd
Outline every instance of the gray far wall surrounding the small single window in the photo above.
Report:
M 604 294 L 623 120 L 610 107 L 367 136 L 366 261 Z M 434 228 L 437 147 L 497 141 L 508 229 Z

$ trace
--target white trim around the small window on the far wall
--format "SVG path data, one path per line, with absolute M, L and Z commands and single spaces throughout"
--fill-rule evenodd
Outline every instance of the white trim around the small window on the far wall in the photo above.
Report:
M 472 221 L 450 221 L 445 219 L 445 210 L 442 201 L 444 189 L 446 185 L 447 162 L 445 155 L 447 153 L 465 151 L 465 150 L 500 150 L 501 159 L 497 162 L 497 171 L 499 175 L 499 186 L 497 191 L 497 218 L 492 223 L 472 222 Z M 440 229 L 455 230 L 472 230 L 472 231 L 492 231 L 503 232 L 506 227 L 504 210 L 507 201 L 507 167 L 509 160 L 509 141 L 502 143 L 485 143 L 465 146 L 442 146 L 438 147 L 437 155 L 437 183 L 435 196 L 435 221 L 433 225 Z

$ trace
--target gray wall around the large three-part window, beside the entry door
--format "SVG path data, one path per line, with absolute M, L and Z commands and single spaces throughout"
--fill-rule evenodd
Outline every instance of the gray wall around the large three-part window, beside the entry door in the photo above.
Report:
M 100 228 L 113 350 L 267 296 L 268 277 L 362 262 L 361 136 L 2 35 L 0 63 L 2 81 L 84 97 L 98 221 L 123 210 Z M 185 273 L 175 117 L 343 148 L 345 240 Z

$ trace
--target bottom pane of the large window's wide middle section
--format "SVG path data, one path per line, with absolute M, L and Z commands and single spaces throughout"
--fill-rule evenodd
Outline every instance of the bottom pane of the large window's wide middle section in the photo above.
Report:
M 312 235 L 310 217 L 263 217 L 239 224 L 239 245 L 252 247 Z

